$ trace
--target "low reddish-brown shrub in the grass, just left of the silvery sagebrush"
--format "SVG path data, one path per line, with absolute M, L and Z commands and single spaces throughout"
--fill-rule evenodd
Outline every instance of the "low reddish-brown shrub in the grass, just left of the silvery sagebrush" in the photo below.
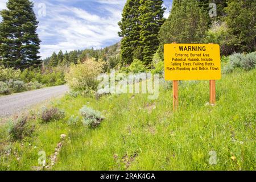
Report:
M 44 108 L 41 119 L 43 122 L 51 122 L 65 117 L 65 112 L 57 107 Z

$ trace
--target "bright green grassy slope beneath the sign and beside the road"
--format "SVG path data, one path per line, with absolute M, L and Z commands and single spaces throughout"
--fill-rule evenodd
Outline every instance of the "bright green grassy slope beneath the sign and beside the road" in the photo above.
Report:
M 60 135 L 63 148 L 52 170 L 255 170 L 256 69 L 236 71 L 217 81 L 217 105 L 209 106 L 209 82 L 182 82 L 180 108 L 172 112 L 171 89 L 160 89 L 158 100 L 146 94 L 76 98 L 69 95 L 51 103 L 65 110 L 61 121 L 43 124 L 31 111 L 36 125 L 32 137 L 10 142 L 8 125 L 0 131 L 0 169 L 31 170 L 38 152 L 47 163 Z M 80 123 L 83 105 L 105 117 L 97 129 Z M 216 165 L 210 165 L 216 154 Z

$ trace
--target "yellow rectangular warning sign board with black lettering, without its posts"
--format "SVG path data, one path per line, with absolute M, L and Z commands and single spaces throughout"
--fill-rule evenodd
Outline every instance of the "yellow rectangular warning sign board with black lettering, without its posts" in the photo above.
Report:
M 220 80 L 220 46 L 217 44 L 165 44 L 166 80 Z

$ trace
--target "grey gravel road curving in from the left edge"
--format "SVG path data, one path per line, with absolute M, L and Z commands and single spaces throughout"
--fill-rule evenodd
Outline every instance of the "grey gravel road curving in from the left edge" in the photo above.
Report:
M 53 86 L 49 88 L 17 93 L 10 96 L 0 97 L 0 118 L 30 109 L 40 102 L 50 100 L 68 92 L 68 86 Z

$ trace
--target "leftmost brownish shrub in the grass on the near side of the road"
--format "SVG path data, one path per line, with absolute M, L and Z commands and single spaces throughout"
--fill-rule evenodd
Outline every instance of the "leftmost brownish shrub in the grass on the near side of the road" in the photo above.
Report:
M 9 134 L 11 139 L 22 140 L 24 137 L 30 137 L 35 131 L 35 125 L 28 124 L 28 116 L 22 116 L 15 121 L 10 121 Z

